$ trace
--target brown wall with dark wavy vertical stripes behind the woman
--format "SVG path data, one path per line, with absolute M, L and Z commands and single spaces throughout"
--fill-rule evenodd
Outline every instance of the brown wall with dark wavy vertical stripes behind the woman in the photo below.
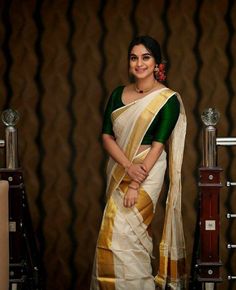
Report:
M 221 136 L 236 134 L 235 2 L 2 0 L 0 11 L 0 109 L 21 114 L 20 161 L 46 289 L 89 288 L 105 202 L 102 112 L 111 90 L 127 82 L 127 45 L 137 34 L 161 42 L 168 84 L 186 106 L 183 217 L 190 271 L 203 109 L 221 112 Z M 220 148 L 224 180 L 236 179 L 234 157 L 235 149 Z M 164 197 L 154 220 L 156 241 Z M 236 256 L 226 243 L 236 242 L 236 224 L 225 218 L 236 212 L 235 201 L 235 190 L 224 188 L 222 289 L 235 287 L 226 281 L 236 273 Z

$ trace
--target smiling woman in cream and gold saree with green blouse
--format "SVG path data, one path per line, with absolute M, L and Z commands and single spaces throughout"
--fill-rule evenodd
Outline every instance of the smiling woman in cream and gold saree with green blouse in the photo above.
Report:
M 185 246 L 181 218 L 181 165 L 186 119 L 178 93 L 165 87 L 161 50 L 149 36 L 135 38 L 128 50 L 134 83 L 116 88 L 107 105 L 103 144 L 107 205 L 98 237 L 91 290 L 184 288 Z M 171 137 L 169 138 L 169 136 Z M 150 224 L 166 170 L 166 216 L 158 275 L 152 276 Z

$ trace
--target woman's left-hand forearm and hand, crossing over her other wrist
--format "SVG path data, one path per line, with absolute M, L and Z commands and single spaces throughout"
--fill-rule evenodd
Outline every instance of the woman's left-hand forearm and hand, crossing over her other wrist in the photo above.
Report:
M 138 183 L 144 181 L 147 177 L 147 172 L 142 164 L 133 164 L 125 156 L 125 153 L 116 143 L 115 138 L 109 134 L 102 134 L 103 146 L 108 154 L 122 167 L 125 168 L 131 179 L 136 180 Z

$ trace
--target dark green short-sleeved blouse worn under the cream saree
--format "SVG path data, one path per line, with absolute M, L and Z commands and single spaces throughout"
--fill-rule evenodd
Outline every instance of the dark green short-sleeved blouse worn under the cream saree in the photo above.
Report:
M 125 106 L 122 102 L 122 93 L 124 86 L 117 87 L 111 94 L 104 113 L 102 133 L 109 134 L 115 137 L 111 114 L 114 110 Z M 141 144 L 149 145 L 153 141 L 165 143 L 175 124 L 178 120 L 180 112 L 180 104 L 176 95 L 169 98 L 166 104 L 158 112 L 151 125 L 149 126 Z

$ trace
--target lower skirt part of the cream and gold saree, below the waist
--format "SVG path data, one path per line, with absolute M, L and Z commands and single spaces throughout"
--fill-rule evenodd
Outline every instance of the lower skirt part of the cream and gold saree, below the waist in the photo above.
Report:
M 140 162 L 147 153 L 139 154 L 134 162 Z M 157 190 L 161 190 L 165 170 L 166 153 L 163 152 L 153 168 L 155 173 L 140 188 L 135 207 L 123 206 L 123 197 L 130 182 L 127 175 L 109 197 L 98 237 L 91 289 L 155 289 L 151 267 L 153 245 L 148 228 L 154 215 L 153 198 L 158 198 Z M 163 173 L 160 174 L 160 171 Z M 153 180 L 155 175 L 158 180 Z M 151 192 L 151 197 L 144 188 L 150 187 L 149 183 L 153 182 L 155 190 Z

